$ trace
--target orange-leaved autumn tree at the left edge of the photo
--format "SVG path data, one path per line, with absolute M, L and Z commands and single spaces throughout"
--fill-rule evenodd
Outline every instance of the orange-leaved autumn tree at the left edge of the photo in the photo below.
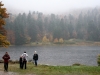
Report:
M 7 33 L 4 28 L 5 18 L 8 18 L 6 8 L 3 8 L 4 4 L 0 2 L 0 46 L 7 47 L 10 43 L 7 41 Z

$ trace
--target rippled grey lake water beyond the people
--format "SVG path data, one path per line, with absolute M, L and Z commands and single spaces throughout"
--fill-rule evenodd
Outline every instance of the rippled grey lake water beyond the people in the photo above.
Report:
M 99 46 L 15 46 L 0 48 L 0 59 L 8 51 L 11 60 L 19 60 L 20 55 L 26 51 L 29 55 L 28 60 L 30 60 L 35 50 L 39 54 L 39 64 L 67 66 L 74 63 L 97 66 L 97 55 L 100 53 Z

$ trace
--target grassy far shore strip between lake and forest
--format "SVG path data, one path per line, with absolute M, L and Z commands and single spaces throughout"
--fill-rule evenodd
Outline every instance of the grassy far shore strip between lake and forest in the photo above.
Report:
M 11 45 L 14 46 L 14 45 Z M 95 41 L 66 41 L 63 43 L 53 42 L 31 42 L 21 46 L 100 46 L 100 42 Z

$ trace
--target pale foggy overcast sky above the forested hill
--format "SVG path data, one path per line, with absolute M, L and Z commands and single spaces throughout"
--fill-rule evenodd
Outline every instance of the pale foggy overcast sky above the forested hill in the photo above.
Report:
M 1 0 L 7 9 L 60 13 L 72 9 L 100 6 L 100 0 Z

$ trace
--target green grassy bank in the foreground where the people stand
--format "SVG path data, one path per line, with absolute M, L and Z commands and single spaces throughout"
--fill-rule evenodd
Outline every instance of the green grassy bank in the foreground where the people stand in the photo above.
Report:
M 3 71 L 3 63 L 0 64 Z M 47 66 L 32 63 L 27 64 L 27 69 L 19 69 L 19 64 L 9 64 L 9 71 L 16 72 L 18 75 L 100 75 L 98 66 Z

